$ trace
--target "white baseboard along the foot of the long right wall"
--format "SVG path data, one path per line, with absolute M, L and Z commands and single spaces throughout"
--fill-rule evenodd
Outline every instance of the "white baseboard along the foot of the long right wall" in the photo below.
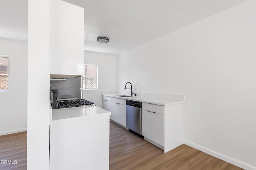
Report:
M 236 160 L 236 159 L 234 159 L 234 158 L 231 158 L 231 157 L 226 156 L 226 155 L 224 155 L 224 154 L 215 152 L 214 150 L 210 150 L 210 149 L 208 149 L 208 148 L 202 147 L 202 146 L 197 145 L 197 144 L 195 144 L 195 143 L 192 143 L 192 142 L 190 142 L 190 141 L 184 140 L 184 144 L 186 144 L 186 145 L 188 145 L 188 146 L 190 146 L 190 147 L 192 147 L 192 148 L 195 148 L 195 149 L 197 149 L 197 150 L 200 150 L 200 151 L 202 151 L 202 152 L 205 152 L 205 153 L 207 153 L 207 154 L 210 154 L 210 155 L 212 155 L 212 156 L 214 156 L 214 157 L 216 157 L 216 158 L 219 158 L 219 159 L 221 159 L 221 160 L 224 160 L 224 161 L 226 161 L 226 162 L 228 162 L 228 163 L 230 163 L 230 164 L 236 165 L 236 166 L 238 166 L 238 167 L 240 167 L 240 168 L 243 168 L 243 169 L 246 169 L 246 170 L 256 170 L 256 167 L 255 167 L 255 166 L 252 166 L 252 165 L 250 165 L 250 164 L 246 164 L 246 163 L 244 163 L 244 162 L 242 162 L 242 161 L 240 161 L 240 160 Z

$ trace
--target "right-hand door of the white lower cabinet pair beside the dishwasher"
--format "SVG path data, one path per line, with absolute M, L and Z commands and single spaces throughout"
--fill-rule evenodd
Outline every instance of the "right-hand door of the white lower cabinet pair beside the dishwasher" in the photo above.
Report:
M 164 146 L 164 115 L 159 113 L 152 114 L 152 141 Z

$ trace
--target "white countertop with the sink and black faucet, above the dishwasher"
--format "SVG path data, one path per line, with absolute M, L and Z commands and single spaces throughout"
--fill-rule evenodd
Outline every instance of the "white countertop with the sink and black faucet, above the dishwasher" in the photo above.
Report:
M 157 104 L 161 106 L 169 106 L 174 104 L 185 103 L 184 96 L 182 95 L 163 95 L 163 94 L 140 94 L 139 96 L 121 97 L 125 94 L 102 94 L 112 98 L 120 98 L 125 100 L 134 100 L 137 102 L 144 102 L 150 104 Z M 128 95 L 125 95 L 128 96 Z

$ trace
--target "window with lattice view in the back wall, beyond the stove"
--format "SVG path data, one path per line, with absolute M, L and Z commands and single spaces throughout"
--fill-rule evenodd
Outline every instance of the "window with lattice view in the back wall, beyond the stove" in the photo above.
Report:
M 98 89 L 98 65 L 84 64 L 83 89 Z

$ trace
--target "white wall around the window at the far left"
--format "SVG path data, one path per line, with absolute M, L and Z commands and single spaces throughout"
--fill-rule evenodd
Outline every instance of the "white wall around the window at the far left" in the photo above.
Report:
M 0 39 L 0 55 L 9 55 L 9 90 L 0 92 L 0 135 L 26 131 L 28 44 Z

